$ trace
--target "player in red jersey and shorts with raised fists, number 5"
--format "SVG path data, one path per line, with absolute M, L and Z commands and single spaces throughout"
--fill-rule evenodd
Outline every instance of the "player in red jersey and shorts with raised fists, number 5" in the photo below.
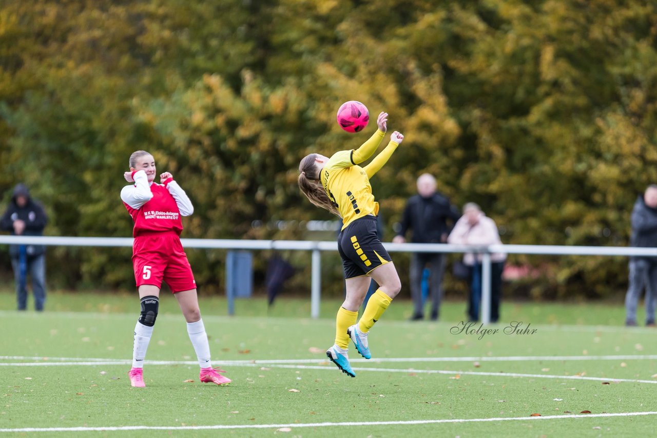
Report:
M 137 150 L 130 156 L 130 171 L 124 173 L 125 181 L 133 184 L 121 190 L 121 200 L 135 222 L 132 261 L 141 301 L 130 383 L 145 386 L 143 361 L 158 316 L 164 280 L 187 320 L 187 333 L 201 367 L 200 381 L 225 385 L 231 380 L 221 376 L 219 372 L 224 371 L 212 368 L 210 362 L 210 345 L 198 309 L 196 282 L 179 237 L 183 230 L 181 216 L 191 215 L 194 207 L 171 173 L 160 175 L 161 184 L 154 183 L 155 175 L 153 156 Z

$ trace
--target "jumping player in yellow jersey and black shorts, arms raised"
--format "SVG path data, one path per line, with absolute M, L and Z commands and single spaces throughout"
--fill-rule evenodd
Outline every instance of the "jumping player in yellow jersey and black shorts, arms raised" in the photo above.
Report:
M 395 131 L 388 146 L 365 167 L 359 166 L 374 154 L 386 133 L 388 114 L 378 115 L 378 130 L 356 150 L 341 150 L 327 158 L 309 154 L 299 165 L 299 187 L 315 206 L 342 218 L 338 251 L 342 257 L 347 296 L 336 317 L 335 343 L 327 357 L 355 377 L 347 355 L 349 339 L 365 359 L 370 359 L 367 335 L 374 322 L 399 293 L 401 283 L 392 259 L 376 234 L 378 202 L 374 201 L 369 179 L 388 161 L 404 136 Z M 356 323 L 370 278 L 379 285 Z

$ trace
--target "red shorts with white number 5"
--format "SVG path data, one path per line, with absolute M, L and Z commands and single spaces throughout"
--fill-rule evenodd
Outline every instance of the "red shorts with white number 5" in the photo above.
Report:
M 192 267 L 175 232 L 137 236 L 132 248 L 137 288 L 142 284 L 162 288 L 164 280 L 174 294 L 196 289 Z

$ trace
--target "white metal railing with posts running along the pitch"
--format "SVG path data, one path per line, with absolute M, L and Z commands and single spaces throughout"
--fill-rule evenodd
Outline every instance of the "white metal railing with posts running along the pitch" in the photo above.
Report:
M 298 250 L 311 251 L 310 316 L 319 318 L 321 300 L 321 252 L 336 251 L 337 243 L 309 240 L 239 240 L 239 239 L 181 239 L 185 248 L 215 250 Z M 0 235 L 0 244 L 48 246 L 106 246 L 131 247 L 133 238 L 127 237 L 63 237 L 63 236 L 7 236 Z M 384 242 L 388 252 L 424 253 L 480 253 L 482 255 L 482 322 L 490 322 L 491 253 L 534 255 L 643 255 L 657 257 L 657 248 L 625 246 L 556 246 L 556 245 L 488 245 L 466 246 L 451 244 L 394 244 Z

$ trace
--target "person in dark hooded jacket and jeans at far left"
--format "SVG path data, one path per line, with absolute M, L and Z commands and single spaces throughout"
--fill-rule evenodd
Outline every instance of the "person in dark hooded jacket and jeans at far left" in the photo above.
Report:
M 43 236 L 48 217 L 41 204 L 30 197 L 24 184 L 14 187 L 7 211 L 0 218 L 0 230 L 15 236 Z M 45 304 L 45 246 L 10 245 L 11 266 L 16 281 L 18 310 L 26 310 L 28 304 L 28 275 L 32 278 L 34 308 L 43 311 Z

